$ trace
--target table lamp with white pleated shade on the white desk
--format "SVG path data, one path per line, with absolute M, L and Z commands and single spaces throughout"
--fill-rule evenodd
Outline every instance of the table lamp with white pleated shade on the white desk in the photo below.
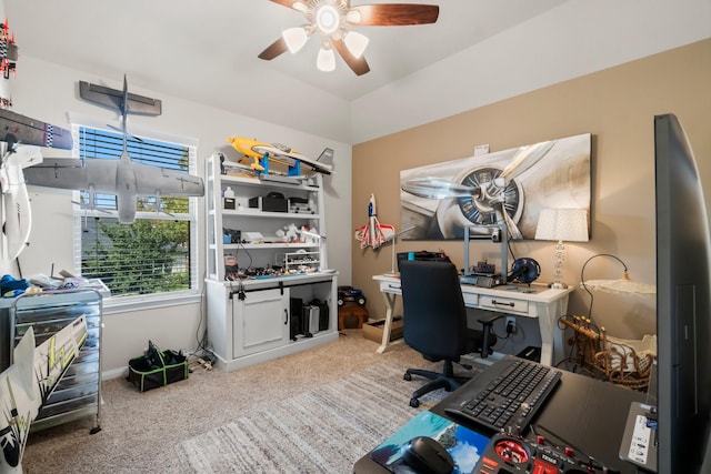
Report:
M 535 240 L 558 241 L 554 256 L 554 282 L 552 289 L 565 289 L 561 282 L 567 242 L 588 242 L 588 210 L 585 209 L 544 209 L 538 218 Z

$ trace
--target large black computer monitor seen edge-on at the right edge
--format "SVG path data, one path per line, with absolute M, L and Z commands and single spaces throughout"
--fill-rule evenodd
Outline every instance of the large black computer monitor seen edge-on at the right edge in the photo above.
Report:
M 673 114 L 654 118 L 654 159 L 658 472 L 693 474 L 709 456 L 711 241 L 694 155 Z

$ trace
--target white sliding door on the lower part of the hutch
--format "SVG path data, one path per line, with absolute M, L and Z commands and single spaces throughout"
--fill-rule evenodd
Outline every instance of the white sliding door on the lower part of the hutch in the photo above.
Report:
M 288 289 L 247 292 L 234 305 L 233 316 L 236 357 L 289 343 Z

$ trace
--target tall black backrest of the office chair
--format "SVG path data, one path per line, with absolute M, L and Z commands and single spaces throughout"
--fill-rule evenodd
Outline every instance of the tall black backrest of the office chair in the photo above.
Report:
M 458 360 L 467 346 L 467 309 L 451 262 L 401 262 L 404 342 L 432 360 Z

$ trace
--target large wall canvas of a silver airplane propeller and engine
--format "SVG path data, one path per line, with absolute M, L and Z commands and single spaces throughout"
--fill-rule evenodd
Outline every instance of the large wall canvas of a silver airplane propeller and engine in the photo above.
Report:
M 400 172 L 403 240 L 463 239 L 505 222 L 532 240 L 542 209 L 590 210 L 591 134 L 549 140 Z

